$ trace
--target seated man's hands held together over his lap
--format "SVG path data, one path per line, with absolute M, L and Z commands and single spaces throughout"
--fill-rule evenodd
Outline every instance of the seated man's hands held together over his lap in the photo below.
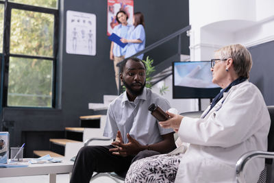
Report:
M 115 141 L 112 143 L 116 148 L 110 149 L 112 154 L 118 155 L 118 156 L 129 156 L 129 155 L 136 155 L 139 151 L 142 149 L 145 149 L 136 139 L 132 138 L 129 134 L 127 134 L 127 138 L 129 140 L 129 143 L 119 143 L 118 141 Z

